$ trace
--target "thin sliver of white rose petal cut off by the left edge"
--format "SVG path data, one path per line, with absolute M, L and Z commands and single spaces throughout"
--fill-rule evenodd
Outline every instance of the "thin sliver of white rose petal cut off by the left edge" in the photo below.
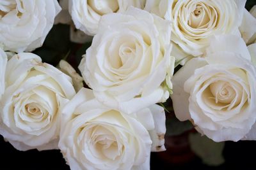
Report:
M 7 55 L 6 53 L 0 48 L 0 99 L 2 94 L 4 93 L 4 74 L 7 64 Z

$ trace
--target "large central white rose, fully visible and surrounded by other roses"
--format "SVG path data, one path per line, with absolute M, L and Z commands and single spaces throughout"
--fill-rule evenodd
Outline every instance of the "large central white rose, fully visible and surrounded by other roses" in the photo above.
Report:
M 136 8 L 102 17 L 79 65 L 99 101 L 131 113 L 169 97 L 175 63 L 169 24 Z

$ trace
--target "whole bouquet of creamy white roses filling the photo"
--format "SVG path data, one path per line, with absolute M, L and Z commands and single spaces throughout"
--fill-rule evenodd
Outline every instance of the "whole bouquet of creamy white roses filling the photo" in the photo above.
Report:
M 17 150 L 60 149 L 70 169 L 150 169 L 171 110 L 191 122 L 183 131 L 255 140 L 256 6 L 245 4 L 0 1 L 0 134 Z

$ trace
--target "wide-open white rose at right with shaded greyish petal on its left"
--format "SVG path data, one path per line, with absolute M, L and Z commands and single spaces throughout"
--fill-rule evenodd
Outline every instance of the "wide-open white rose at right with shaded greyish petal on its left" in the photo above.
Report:
M 173 76 L 173 108 L 214 141 L 238 141 L 255 123 L 256 69 L 243 39 L 216 36 L 205 58 Z

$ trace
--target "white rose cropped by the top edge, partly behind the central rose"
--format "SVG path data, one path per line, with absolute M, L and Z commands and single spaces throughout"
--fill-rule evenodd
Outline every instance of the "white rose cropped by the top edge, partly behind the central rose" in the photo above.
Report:
M 88 35 L 98 32 L 99 20 L 108 13 L 123 12 L 134 6 L 143 9 L 146 0 L 70 0 L 69 12 L 77 29 Z

